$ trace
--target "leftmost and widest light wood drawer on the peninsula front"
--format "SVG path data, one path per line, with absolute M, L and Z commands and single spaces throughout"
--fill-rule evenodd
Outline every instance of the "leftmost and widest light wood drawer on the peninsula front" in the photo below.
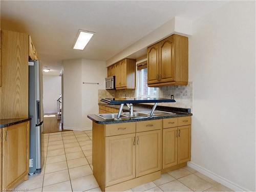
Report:
M 113 135 L 123 135 L 136 132 L 136 122 L 116 123 L 106 125 L 106 137 Z

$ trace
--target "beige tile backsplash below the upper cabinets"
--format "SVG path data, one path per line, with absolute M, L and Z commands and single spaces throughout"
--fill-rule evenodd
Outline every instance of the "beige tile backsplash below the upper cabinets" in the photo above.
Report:
M 98 90 L 98 100 L 101 98 L 122 98 L 135 97 L 136 90 Z M 188 82 L 187 86 L 163 86 L 159 87 L 159 97 L 170 98 L 174 95 L 175 103 L 159 103 L 158 105 L 175 106 L 178 108 L 190 108 L 193 111 L 193 82 Z

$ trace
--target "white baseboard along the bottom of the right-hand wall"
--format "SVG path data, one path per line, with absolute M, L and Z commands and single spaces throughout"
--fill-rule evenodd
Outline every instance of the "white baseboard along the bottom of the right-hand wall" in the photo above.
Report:
M 234 190 L 234 191 L 251 191 L 249 189 L 246 189 L 236 183 L 233 183 L 232 181 L 229 181 L 213 172 L 211 172 L 210 170 L 194 163 L 194 162 L 187 162 L 187 166 L 191 167 L 191 168 L 194 168 L 195 170 L 197 170 L 198 172 L 200 172 L 201 174 L 221 183 L 222 185 L 225 185 L 226 187 Z

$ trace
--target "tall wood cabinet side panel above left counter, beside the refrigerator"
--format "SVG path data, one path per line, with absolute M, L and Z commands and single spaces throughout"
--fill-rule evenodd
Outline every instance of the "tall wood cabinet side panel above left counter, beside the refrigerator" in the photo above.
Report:
M 29 35 L 1 30 L 1 119 L 28 117 Z

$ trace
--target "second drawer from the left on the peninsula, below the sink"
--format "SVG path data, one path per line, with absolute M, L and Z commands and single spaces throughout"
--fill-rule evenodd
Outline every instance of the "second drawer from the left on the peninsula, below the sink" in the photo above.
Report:
M 138 121 L 136 132 L 145 132 L 162 129 L 162 119 L 150 121 Z

